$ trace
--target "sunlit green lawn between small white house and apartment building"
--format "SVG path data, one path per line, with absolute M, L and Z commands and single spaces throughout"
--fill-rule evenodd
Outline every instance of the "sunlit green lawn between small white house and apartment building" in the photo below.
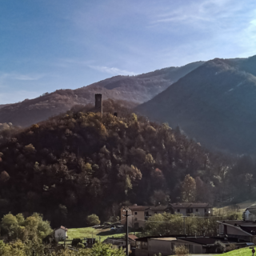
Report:
M 134 233 L 130 233 L 134 234 Z M 106 238 L 121 238 L 125 235 L 125 233 L 118 233 L 116 231 L 112 231 L 110 229 L 101 230 L 94 229 L 92 227 L 82 227 L 78 229 L 69 229 L 67 231 L 68 238 L 67 240 L 72 240 L 73 238 L 96 238 L 97 240 L 104 241 Z

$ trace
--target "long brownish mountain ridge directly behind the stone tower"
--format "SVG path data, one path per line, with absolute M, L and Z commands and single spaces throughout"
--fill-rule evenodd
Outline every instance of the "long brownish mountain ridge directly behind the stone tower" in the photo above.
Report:
M 194 62 L 186 66 L 169 67 L 137 76 L 119 75 L 77 90 L 56 90 L 38 98 L 0 106 L 0 122 L 29 126 L 70 110 L 74 105 L 93 103 L 94 94 L 98 93 L 102 94 L 103 99 L 126 100 L 140 104 L 150 100 L 202 63 Z

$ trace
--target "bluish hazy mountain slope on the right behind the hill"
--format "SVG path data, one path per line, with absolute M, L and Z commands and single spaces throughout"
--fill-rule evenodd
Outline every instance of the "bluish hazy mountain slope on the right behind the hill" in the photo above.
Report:
M 256 56 L 204 63 L 149 102 L 148 117 L 180 126 L 202 145 L 256 152 Z

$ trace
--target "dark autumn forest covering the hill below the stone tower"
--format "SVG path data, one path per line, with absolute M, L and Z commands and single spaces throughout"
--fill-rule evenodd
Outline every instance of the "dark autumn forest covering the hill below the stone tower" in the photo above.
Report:
M 253 158 L 210 153 L 178 127 L 150 122 L 125 103 L 103 102 L 102 116 L 92 106 L 74 106 L 29 128 L 3 130 L 1 217 L 38 212 L 53 227 L 86 226 L 87 215 L 105 221 L 122 204 L 186 201 L 185 177 L 195 183 L 194 202 L 251 196 Z

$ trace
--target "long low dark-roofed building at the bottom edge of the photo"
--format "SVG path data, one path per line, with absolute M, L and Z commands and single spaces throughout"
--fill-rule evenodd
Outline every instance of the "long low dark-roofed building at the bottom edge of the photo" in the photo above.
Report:
M 216 254 L 214 243 L 221 241 L 227 247 L 234 244 L 236 248 L 253 245 L 238 238 L 206 238 L 187 236 L 146 237 L 136 239 L 135 256 L 174 255 L 174 246 L 186 246 L 190 254 Z

